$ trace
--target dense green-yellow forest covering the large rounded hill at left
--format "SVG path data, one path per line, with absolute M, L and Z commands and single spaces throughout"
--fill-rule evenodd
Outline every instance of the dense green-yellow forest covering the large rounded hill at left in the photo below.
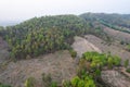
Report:
M 34 17 L 0 30 L 10 45 L 11 58 L 25 59 L 68 49 L 73 37 L 89 32 L 89 24 L 76 15 Z

